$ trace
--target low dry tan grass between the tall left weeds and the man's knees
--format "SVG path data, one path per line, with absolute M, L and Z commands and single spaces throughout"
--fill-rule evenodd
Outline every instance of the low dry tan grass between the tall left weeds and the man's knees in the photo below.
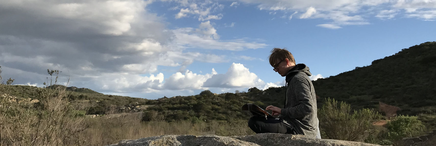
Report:
M 106 146 L 119 140 L 132 140 L 160 135 L 252 135 L 247 121 L 211 121 L 209 123 L 190 121 L 141 122 L 138 116 L 90 119 L 91 127 L 74 137 L 81 146 Z

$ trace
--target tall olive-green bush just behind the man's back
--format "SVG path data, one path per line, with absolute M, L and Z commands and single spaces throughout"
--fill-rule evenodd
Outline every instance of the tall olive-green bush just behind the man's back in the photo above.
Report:
M 381 118 L 381 114 L 369 109 L 354 110 L 351 113 L 350 104 L 327 98 L 325 104 L 318 110 L 320 132 L 324 139 L 364 142 L 375 133 L 372 122 Z

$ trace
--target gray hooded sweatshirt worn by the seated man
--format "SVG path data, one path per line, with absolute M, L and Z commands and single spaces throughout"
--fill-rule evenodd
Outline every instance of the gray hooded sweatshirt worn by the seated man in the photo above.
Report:
M 285 107 L 282 108 L 279 118 L 294 125 L 298 134 L 321 138 L 318 127 L 317 98 L 309 76 L 312 74 L 309 67 L 304 64 L 297 64 L 288 72 Z

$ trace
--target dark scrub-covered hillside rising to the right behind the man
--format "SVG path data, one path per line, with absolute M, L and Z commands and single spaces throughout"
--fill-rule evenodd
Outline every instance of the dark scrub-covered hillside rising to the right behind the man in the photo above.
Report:
M 400 107 L 401 114 L 436 110 L 436 42 L 402 49 L 369 66 L 313 81 L 317 95 L 373 107 L 378 101 Z

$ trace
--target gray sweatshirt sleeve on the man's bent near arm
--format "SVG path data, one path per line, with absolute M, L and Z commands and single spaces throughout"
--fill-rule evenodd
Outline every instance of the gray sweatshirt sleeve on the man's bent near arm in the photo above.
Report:
M 294 95 L 287 95 L 286 98 L 288 98 L 287 101 L 290 101 L 289 98 L 296 98 L 296 102 L 298 102 L 298 104 L 295 107 L 282 108 L 281 115 L 296 119 L 304 117 L 313 112 L 312 104 L 310 104 L 313 103 L 310 102 L 310 100 L 313 98 L 311 97 L 312 94 L 307 81 L 301 77 L 296 77 L 294 79 L 290 84 L 290 86 L 292 86 Z

